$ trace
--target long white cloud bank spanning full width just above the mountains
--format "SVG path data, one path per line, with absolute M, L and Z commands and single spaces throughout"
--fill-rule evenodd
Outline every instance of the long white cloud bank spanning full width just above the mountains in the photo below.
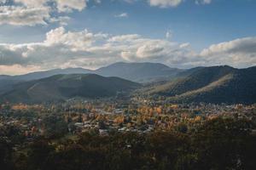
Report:
M 53 68 L 97 68 L 117 61 L 160 62 L 172 67 L 256 64 L 256 37 L 213 44 L 195 52 L 188 42 L 145 38 L 137 34 L 112 36 L 104 33 L 67 31 L 59 27 L 46 33 L 43 42 L 0 44 L 1 74 L 11 69 L 26 71 Z M 3 68 L 6 71 L 3 71 Z M 14 74 L 19 72 L 14 71 Z

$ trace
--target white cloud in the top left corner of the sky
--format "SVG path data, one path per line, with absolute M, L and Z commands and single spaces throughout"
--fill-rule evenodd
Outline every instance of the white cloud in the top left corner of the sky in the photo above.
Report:
M 88 0 L 0 0 L 0 25 L 36 26 L 59 22 L 67 24 L 69 18 L 60 13 L 83 10 Z M 100 3 L 100 1 L 95 1 Z

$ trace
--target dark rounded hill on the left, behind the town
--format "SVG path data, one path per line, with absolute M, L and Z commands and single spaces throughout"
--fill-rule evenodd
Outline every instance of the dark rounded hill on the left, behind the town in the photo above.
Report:
M 138 83 L 118 77 L 94 74 L 56 75 L 17 84 L 13 90 L 2 94 L 0 99 L 11 102 L 47 102 L 73 97 L 111 97 L 118 92 L 138 87 Z

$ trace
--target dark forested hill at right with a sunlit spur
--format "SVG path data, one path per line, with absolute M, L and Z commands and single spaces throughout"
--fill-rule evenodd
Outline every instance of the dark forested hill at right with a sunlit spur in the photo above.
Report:
M 256 67 L 213 66 L 188 77 L 151 88 L 149 94 L 169 96 L 175 102 L 256 103 Z

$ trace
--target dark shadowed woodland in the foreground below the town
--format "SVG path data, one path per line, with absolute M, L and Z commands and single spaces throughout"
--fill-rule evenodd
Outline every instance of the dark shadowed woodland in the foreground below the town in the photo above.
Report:
M 193 132 L 81 133 L 64 138 L 51 133 L 27 141 L 18 129 L 4 127 L 0 167 L 6 170 L 245 169 L 256 167 L 253 123 L 215 118 Z M 19 147 L 16 147 L 19 145 Z

